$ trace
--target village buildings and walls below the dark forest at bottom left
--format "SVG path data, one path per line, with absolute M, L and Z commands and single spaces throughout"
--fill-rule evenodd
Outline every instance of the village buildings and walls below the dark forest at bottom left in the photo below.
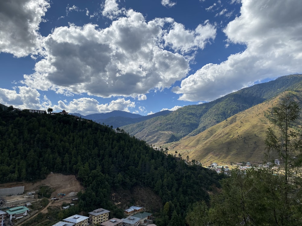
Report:
M 0 189 L 0 196 L 12 196 L 19 195 L 19 193 L 24 193 L 24 186 L 2 188 Z M 0 210 L 0 226 L 4 225 L 19 225 L 26 221 L 31 215 L 34 215 L 37 210 L 32 210 L 32 202 L 39 201 L 39 199 L 34 199 L 35 192 L 29 192 L 24 199 L 16 200 L 11 202 L 6 202 L 4 198 L 1 198 L 1 209 Z M 62 195 L 62 196 L 61 196 Z M 66 194 L 58 194 L 58 197 L 65 198 Z M 60 198 L 53 197 L 51 200 L 55 202 Z M 27 201 L 28 200 L 28 201 Z M 73 201 L 77 201 L 77 198 L 73 198 Z M 22 204 L 26 202 L 26 204 Z M 13 205 L 19 203 L 19 205 Z M 13 205 L 13 206 L 11 206 Z M 63 206 L 64 209 L 73 208 L 74 202 L 68 206 Z M 11 206 L 11 207 L 8 207 Z M 29 215 L 29 213 L 33 213 Z M 53 224 L 52 226 L 86 226 L 86 225 L 101 225 L 101 226 L 156 226 L 153 224 L 153 214 L 145 212 L 144 207 L 131 206 L 124 210 L 125 218 L 111 218 L 109 219 L 109 210 L 99 208 L 88 212 L 88 216 L 83 216 L 75 214 L 67 218 L 62 219 L 62 221 Z

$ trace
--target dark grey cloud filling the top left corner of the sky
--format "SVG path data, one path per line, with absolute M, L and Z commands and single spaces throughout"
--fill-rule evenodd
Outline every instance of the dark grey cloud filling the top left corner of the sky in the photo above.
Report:
M 47 0 L 1 0 L 0 52 L 15 57 L 37 54 L 42 39 L 39 24 L 49 7 Z

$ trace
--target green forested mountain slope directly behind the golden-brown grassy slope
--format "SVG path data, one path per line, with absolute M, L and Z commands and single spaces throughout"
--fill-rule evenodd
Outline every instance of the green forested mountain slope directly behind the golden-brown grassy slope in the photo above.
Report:
M 148 143 L 169 143 L 187 135 L 194 136 L 238 112 L 271 99 L 278 94 L 302 87 L 302 75 L 279 77 L 274 81 L 230 93 L 217 100 L 188 105 L 168 115 L 122 127 L 130 135 Z

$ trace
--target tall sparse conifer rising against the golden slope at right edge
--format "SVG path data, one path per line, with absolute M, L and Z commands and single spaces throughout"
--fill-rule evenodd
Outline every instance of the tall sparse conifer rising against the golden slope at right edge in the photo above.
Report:
M 265 139 L 269 151 L 277 152 L 282 167 L 271 169 L 271 173 L 278 175 L 280 183 L 276 184 L 276 197 L 281 209 L 272 209 L 276 225 L 301 225 L 302 190 L 301 190 L 301 153 L 302 140 L 297 120 L 300 117 L 300 107 L 293 100 L 294 96 L 287 96 L 269 109 L 265 117 L 273 125 L 268 127 Z M 268 181 L 269 182 L 269 181 Z

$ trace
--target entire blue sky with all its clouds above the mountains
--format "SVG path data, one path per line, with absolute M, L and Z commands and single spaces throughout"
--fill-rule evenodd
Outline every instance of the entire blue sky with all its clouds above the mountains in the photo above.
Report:
M 1 0 L 0 103 L 149 115 L 301 74 L 301 0 Z

